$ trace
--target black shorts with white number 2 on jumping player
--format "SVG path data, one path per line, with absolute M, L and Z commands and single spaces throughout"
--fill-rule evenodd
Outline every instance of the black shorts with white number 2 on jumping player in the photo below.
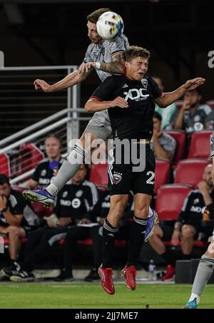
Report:
M 134 195 L 136 193 L 154 194 L 156 158 L 150 144 L 146 144 L 145 169 L 133 172 L 135 166 L 109 163 L 108 188 L 110 195 L 129 194 L 130 190 Z

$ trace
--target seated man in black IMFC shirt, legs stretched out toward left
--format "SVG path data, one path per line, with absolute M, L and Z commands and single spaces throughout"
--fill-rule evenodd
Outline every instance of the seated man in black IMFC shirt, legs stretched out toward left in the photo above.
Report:
M 44 260 L 50 254 L 51 247 L 66 237 L 72 226 L 76 227 L 79 222 L 91 222 L 93 207 L 98 201 L 98 193 L 93 183 L 84 180 L 86 173 L 86 165 L 81 165 L 71 183 L 67 183 L 58 194 L 54 209 L 54 214 L 58 219 L 54 217 L 53 221 L 52 216 L 45 227 L 31 232 L 26 244 L 24 262 L 19 264 L 19 269 L 16 268 L 14 271 L 14 267 L 6 267 L 1 270 L 12 281 L 33 281 L 34 275 L 31 274 L 31 270 L 33 270 L 34 264 Z M 81 229 L 80 239 L 88 237 L 90 229 L 78 228 Z M 71 246 L 69 246 L 69 251 L 71 252 Z

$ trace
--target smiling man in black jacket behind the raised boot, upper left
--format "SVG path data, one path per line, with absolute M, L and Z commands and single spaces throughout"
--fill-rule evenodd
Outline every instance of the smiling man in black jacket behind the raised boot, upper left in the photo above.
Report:
M 45 140 L 47 158 L 37 166 L 26 188 L 46 188 L 54 178 L 54 172 L 60 168 L 64 159 L 61 157 L 61 140 L 57 135 L 51 134 Z

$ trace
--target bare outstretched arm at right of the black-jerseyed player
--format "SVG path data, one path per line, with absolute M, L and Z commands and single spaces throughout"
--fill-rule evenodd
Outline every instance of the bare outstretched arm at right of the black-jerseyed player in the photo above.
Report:
M 170 93 L 163 93 L 162 96 L 156 98 L 155 101 L 161 108 L 166 108 L 171 103 L 181 98 L 186 91 L 193 91 L 203 83 L 205 83 L 205 78 L 193 78 L 192 80 L 186 81 L 183 86 L 180 86 L 180 88 L 177 88 L 175 91 Z

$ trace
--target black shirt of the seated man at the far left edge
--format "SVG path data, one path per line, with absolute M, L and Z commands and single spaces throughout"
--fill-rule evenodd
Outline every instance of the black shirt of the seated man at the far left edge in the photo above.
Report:
M 11 212 L 12 215 L 23 215 L 25 207 L 28 205 L 28 202 L 24 199 L 21 193 L 16 190 L 11 190 L 9 198 L 7 199 L 6 207 Z M 28 225 L 28 222 L 23 217 L 21 220 L 21 227 Z M 0 227 L 8 227 L 9 223 L 4 217 L 4 213 L 0 211 Z

